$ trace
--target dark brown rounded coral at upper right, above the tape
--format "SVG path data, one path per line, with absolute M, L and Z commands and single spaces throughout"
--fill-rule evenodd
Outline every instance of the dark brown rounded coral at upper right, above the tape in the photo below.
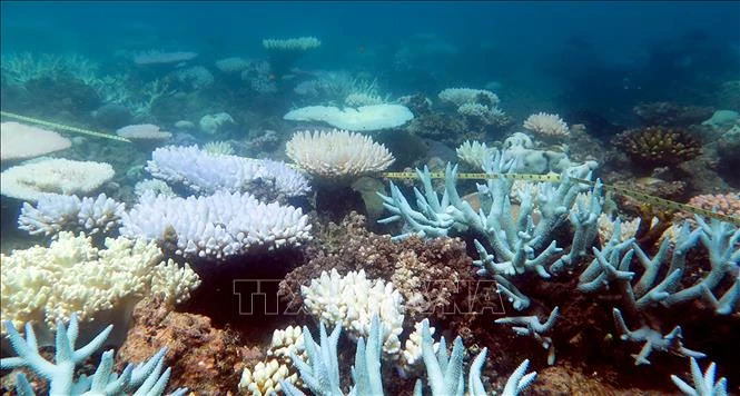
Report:
M 651 168 L 675 166 L 701 154 L 701 145 L 678 128 L 631 129 L 614 137 L 615 147 L 635 162 Z

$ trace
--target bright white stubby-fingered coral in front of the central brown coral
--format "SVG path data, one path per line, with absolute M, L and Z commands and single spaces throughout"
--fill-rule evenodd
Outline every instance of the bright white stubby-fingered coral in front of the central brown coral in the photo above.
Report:
M 369 335 L 371 319 L 378 315 L 383 325 L 383 352 L 388 357 L 401 353 L 398 336 L 403 331 L 405 307 L 401 293 L 392 283 L 369 280 L 365 271 L 339 276 L 336 269 L 323 271 L 310 285 L 302 286 L 304 305 L 326 324 L 342 323 L 351 337 Z

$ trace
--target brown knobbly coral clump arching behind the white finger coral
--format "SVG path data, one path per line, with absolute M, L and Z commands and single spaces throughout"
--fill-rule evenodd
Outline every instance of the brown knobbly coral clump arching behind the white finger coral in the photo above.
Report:
M 280 283 L 280 295 L 290 300 L 289 310 L 297 310 L 303 304 L 300 285 L 308 285 L 322 270 L 332 268 L 341 275 L 365 269 L 369 279 L 392 280 L 404 297 L 410 324 L 427 315 L 444 317 L 453 306 L 460 310 L 472 308 L 467 290 L 476 284 L 465 242 L 416 237 L 395 242 L 389 236 L 367 231 L 364 221 L 364 217 L 352 212 L 341 225 L 317 227 L 316 239 L 324 241 L 323 246 L 308 251 L 309 263 Z M 481 294 L 481 298 L 486 296 Z

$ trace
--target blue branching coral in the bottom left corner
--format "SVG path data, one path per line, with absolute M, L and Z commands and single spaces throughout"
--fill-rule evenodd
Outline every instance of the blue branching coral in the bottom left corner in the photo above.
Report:
M 167 387 L 170 369 L 167 368 L 162 373 L 165 353 L 167 352 L 165 348 L 145 363 L 136 366 L 127 365 L 120 375 L 112 372 L 114 352 L 108 350 L 102 354 L 100 365 L 98 365 L 92 377 L 82 375 L 78 380 L 75 380 L 75 367 L 103 346 L 114 328 L 112 325 L 106 327 L 86 346 L 75 349 L 75 343 L 79 334 L 77 315 L 73 314 L 70 317 L 69 328 L 65 327 L 62 320 L 58 320 L 55 363 L 45 359 L 39 354 L 36 334 L 30 324 L 26 325 L 26 339 L 18 333 L 12 321 L 6 321 L 6 326 L 10 344 L 18 356 L 0 359 L 0 368 L 31 368 L 49 380 L 50 395 L 82 395 L 89 393 L 96 395 L 161 395 Z M 16 390 L 19 395 L 33 395 L 33 390 L 23 374 L 18 376 Z M 185 395 L 186 392 L 186 388 L 180 388 L 171 395 Z

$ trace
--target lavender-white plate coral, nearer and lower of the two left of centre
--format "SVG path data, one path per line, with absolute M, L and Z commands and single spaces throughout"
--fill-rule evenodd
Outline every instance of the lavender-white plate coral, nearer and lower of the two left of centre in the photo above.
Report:
M 299 208 L 226 191 L 188 198 L 146 194 L 124 215 L 120 228 L 127 237 L 172 242 L 177 255 L 215 259 L 298 246 L 310 239 L 309 230 Z

